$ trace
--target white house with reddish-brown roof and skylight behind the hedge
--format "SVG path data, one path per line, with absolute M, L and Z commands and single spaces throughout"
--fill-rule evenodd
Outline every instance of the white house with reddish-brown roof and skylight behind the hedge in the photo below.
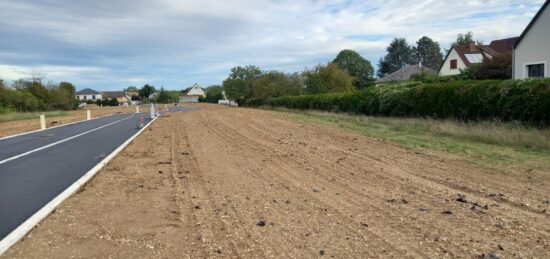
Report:
M 439 75 L 458 75 L 461 69 L 465 69 L 472 64 L 480 64 L 483 59 L 492 59 L 499 54 L 511 53 L 517 40 L 518 37 L 514 37 L 494 40 L 489 45 L 477 45 L 475 43 L 470 43 L 468 46 L 453 45 L 439 68 Z

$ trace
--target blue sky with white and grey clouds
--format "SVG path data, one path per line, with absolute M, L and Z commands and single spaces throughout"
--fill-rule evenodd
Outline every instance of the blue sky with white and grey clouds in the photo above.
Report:
M 302 71 L 395 37 L 519 36 L 544 0 L 1 0 L 0 78 L 77 89 L 221 84 L 230 69 Z

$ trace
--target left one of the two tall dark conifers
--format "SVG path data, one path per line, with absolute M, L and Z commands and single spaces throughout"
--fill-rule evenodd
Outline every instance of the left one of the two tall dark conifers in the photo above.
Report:
M 384 77 L 414 63 L 412 49 L 405 38 L 395 38 L 386 50 L 388 54 L 378 62 L 378 77 Z

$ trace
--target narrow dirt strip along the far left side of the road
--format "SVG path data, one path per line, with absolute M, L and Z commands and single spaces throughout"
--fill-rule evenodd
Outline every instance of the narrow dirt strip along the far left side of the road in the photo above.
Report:
M 117 112 L 135 112 L 135 107 L 90 107 L 92 118 L 114 114 Z M 86 110 L 78 109 L 68 111 L 69 115 L 59 117 L 46 117 L 46 127 L 53 127 L 61 124 L 81 121 L 86 119 Z M 19 120 L 0 123 L 0 138 L 14 134 L 40 129 L 40 120 Z

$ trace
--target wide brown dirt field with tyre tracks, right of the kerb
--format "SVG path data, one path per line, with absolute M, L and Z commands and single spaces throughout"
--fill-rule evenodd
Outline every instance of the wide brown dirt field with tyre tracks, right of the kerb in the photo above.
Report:
M 549 173 L 209 106 L 157 120 L 3 256 L 548 258 Z

